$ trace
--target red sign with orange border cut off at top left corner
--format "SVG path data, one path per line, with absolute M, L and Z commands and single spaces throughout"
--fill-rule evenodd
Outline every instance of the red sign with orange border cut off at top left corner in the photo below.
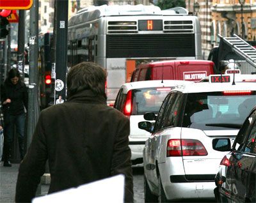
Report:
M 0 9 L 7 10 L 29 10 L 33 0 L 1 0 Z

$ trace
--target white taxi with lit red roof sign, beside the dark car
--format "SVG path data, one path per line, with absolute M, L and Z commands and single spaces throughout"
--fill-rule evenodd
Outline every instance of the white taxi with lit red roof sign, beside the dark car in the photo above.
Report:
M 157 116 L 147 112 L 148 121 L 139 123 L 152 133 L 143 149 L 145 202 L 214 199 L 214 177 L 227 152 L 212 144 L 234 142 L 256 105 L 256 81 L 233 75 L 211 75 L 209 81 L 176 87 Z

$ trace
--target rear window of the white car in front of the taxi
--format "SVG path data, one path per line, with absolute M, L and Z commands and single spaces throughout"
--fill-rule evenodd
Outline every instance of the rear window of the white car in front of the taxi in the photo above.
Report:
M 158 113 L 164 98 L 172 87 L 147 87 L 132 90 L 132 115 Z

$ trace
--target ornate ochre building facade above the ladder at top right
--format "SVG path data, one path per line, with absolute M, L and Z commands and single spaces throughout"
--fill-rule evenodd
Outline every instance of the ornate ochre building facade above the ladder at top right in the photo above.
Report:
M 218 34 L 256 40 L 256 0 L 213 0 L 211 11 L 212 45 L 218 44 Z

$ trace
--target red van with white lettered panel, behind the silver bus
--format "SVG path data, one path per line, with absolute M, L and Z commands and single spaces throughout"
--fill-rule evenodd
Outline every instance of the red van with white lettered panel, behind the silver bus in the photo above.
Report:
M 132 73 L 131 82 L 143 80 L 199 81 L 214 74 L 214 63 L 206 60 L 172 60 L 140 64 Z

